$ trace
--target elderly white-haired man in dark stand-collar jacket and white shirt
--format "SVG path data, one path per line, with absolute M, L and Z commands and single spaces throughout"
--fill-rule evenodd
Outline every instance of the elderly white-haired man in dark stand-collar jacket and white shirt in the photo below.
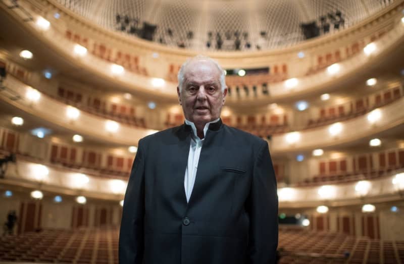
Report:
M 188 60 L 178 82 L 185 123 L 139 141 L 119 262 L 274 263 L 278 198 L 267 142 L 220 120 L 227 87 L 215 61 Z

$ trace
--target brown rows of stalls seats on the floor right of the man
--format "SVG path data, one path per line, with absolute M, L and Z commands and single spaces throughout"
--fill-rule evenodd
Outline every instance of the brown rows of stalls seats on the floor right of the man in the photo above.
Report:
M 279 230 L 279 263 L 385 263 L 404 261 L 404 241 L 386 241 L 299 228 Z M 397 255 L 394 253 L 397 251 Z

